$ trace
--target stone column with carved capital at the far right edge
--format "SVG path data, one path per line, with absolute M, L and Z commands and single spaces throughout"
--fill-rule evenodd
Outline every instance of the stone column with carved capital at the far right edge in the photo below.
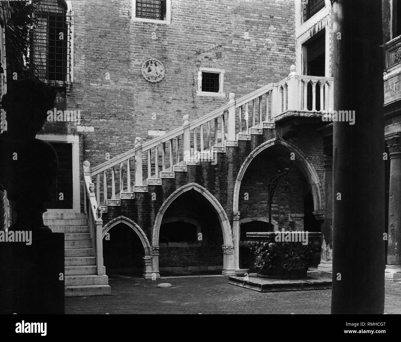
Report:
M 386 138 L 390 157 L 389 233 L 385 280 L 401 280 L 401 133 Z

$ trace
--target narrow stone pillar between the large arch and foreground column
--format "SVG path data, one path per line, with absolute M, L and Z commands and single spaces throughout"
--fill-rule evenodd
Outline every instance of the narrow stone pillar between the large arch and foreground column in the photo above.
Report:
M 322 246 L 320 248 L 320 264 L 318 265 L 318 271 L 331 272 L 333 265 L 333 145 L 331 143 L 332 136 L 328 136 L 325 140 L 329 142 L 325 143 L 324 147 L 324 222 L 322 223 Z

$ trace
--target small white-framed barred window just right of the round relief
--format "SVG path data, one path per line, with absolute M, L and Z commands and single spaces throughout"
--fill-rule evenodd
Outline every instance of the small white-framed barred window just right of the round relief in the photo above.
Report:
M 196 95 L 225 96 L 223 93 L 224 73 L 223 69 L 200 68 Z

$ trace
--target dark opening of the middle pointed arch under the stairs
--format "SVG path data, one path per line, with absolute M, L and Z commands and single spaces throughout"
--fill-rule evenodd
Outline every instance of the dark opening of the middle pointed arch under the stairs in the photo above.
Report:
M 221 224 L 212 204 L 198 191 L 186 191 L 170 204 L 159 236 L 161 276 L 221 274 Z

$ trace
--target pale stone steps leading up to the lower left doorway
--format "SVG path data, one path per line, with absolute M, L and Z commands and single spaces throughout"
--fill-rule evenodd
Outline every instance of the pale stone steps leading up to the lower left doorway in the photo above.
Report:
M 64 233 L 65 236 L 65 296 L 110 295 L 107 275 L 97 275 L 95 250 L 86 214 L 49 210 L 43 218 L 52 232 Z

